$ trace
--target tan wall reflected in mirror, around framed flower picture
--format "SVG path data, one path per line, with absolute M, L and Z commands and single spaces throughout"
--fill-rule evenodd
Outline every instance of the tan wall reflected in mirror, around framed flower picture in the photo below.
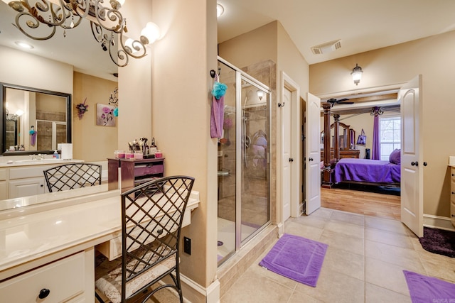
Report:
M 115 126 L 96 125 L 97 104 L 109 104 L 117 82 L 74 73 L 73 94 L 73 158 L 85 161 L 106 161 L 117 149 L 118 119 Z M 82 119 L 77 116 L 76 104 L 88 104 Z

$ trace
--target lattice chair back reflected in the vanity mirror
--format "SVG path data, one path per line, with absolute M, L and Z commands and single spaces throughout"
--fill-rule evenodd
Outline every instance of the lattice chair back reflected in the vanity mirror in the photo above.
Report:
M 101 184 L 101 165 L 71 163 L 44 170 L 49 192 L 90 187 Z

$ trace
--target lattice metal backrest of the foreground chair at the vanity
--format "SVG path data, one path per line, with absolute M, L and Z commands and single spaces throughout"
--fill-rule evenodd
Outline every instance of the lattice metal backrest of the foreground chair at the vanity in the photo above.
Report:
M 155 272 L 147 287 L 173 271 L 179 274 L 181 226 L 193 183 L 193 177 L 162 177 L 122 193 L 122 302 L 144 290 L 127 294 L 126 285 L 147 270 Z M 157 270 L 163 262 L 166 270 Z

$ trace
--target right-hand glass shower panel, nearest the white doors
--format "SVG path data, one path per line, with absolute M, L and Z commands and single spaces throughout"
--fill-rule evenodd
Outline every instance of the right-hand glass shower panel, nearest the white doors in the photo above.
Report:
M 269 94 L 242 79 L 240 240 L 269 221 Z

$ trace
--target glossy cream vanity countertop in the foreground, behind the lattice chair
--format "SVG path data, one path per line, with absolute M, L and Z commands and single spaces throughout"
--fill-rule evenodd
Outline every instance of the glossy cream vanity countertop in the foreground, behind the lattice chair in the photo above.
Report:
M 120 191 L 18 207 L 0 219 L 0 280 L 11 268 L 74 247 L 95 246 L 121 232 Z M 199 193 L 192 192 L 188 209 L 198 207 Z M 0 214 L 3 211 L 0 211 Z

